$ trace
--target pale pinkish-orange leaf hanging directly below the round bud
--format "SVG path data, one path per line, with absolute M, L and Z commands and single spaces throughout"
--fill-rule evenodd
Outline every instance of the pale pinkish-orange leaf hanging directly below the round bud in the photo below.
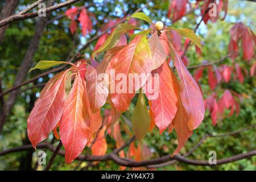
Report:
M 167 55 L 164 52 L 164 48 L 158 38 L 158 32 L 155 32 L 148 39 L 148 44 L 150 46 L 152 60 L 155 62 L 154 69 L 160 67 L 161 64 L 166 60 Z

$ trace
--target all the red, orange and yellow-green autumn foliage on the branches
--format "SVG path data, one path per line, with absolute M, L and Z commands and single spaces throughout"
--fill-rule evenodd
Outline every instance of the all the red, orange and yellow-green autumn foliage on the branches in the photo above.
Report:
M 202 15 L 210 1 L 203 2 Z M 197 1 L 196 6 L 199 6 L 198 3 L 200 1 Z M 212 18 L 207 15 L 203 19 L 204 23 L 208 20 L 216 22 L 220 11 L 226 14 L 227 6 L 228 1 L 218 1 L 218 16 Z M 168 16 L 175 22 L 191 9 L 187 0 L 172 1 Z M 94 16 L 85 7 L 73 7 L 65 15 L 71 20 L 71 34 L 78 31 L 79 23 L 83 35 L 92 30 Z M 144 20 L 152 28 L 144 30 L 138 26 L 137 19 Z M 171 133 L 174 129 L 178 144 L 171 153 L 173 155 L 179 153 L 193 130 L 200 126 L 205 109 L 209 110 L 214 126 L 225 117 L 224 110 L 230 110 L 229 115 L 239 113 L 240 94 L 226 89 L 218 98 L 216 86 L 221 82 L 229 82 L 230 79 L 242 83 L 246 74 L 255 75 L 255 64 L 252 65 L 251 73 L 246 73 L 239 64 L 223 64 L 220 67 L 209 64 L 196 68 L 192 76 L 187 68 L 189 62 L 184 55 L 185 47 L 192 42 L 199 55 L 202 48 L 200 39 L 192 30 L 156 27 L 143 13 L 134 13 L 127 18 L 126 23 L 119 21 L 121 20 L 110 20 L 102 28 L 101 31 L 108 28 L 111 30 L 97 40 L 90 61 L 77 60 L 75 64 L 40 61 L 32 68 L 47 69 L 58 64 L 68 64 L 70 67 L 53 76 L 35 102 L 27 120 L 28 138 L 32 146 L 36 147 L 53 131 L 64 145 L 67 163 L 76 159 L 85 146 L 91 146 L 93 155 L 104 155 L 107 150 L 106 134 L 114 138 L 117 148 L 121 147 L 124 141 L 118 118 L 129 109 L 133 98 L 137 98 L 131 118 L 133 131 L 126 129 L 127 135 L 132 137 L 134 134 L 138 140 L 142 140 L 155 126 L 161 134 L 166 130 Z M 181 44 L 183 38 L 185 45 Z M 242 23 L 234 24 L 230 30 L 230 57 L 234 60 L 239 55 L 241 45 L 244 59 L 252 59 L 255 41 L 255 35 L 249 27 Z M 109 80 L 112 70 L 115 75 L 125 76 L 125 84 L 121 84 L 120 79 L 107 84 L 98 79 L 101 73 L 105 73 Z M 205 99 L 199 85 L 204 72 L 207 72 L 209 88 L 212 90 L 212 94 Z M 233 77 L 232 72 L 235 75 Z M 136 82 L 129 78 L 130 74 L 145 77 Z M 134 85 L 132 89 L 129 88 L 130 84 Z M 98 85 L 104 92 L 98 92 Z M 148 85 L 154 87 L 158 97 L 152 97 L 153 93 L 148 91 Z M 112 92 L 117 87 L 124 92 Z M 104 105 L 108 105 L 108 109 L 102 109 Z M 119 152 L 119 156 L 125 155 L 140 161 L 149 159 L 150 151 L 145 144 L 135 146 L 132 143 L 127 154 L 123 150 Z

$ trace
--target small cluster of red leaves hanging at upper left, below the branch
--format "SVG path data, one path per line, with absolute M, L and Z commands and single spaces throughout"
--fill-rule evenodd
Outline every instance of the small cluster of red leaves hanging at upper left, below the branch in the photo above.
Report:
M 71 34 L 75 34 L 77 30 L 77 21 L 81 23 L 82 35 L 85 36 L 90 31 L 92 31 L 92 19 L 90 19 L 90 16 L 93 16 L 93 14 L 88 13 L 85 7 L 73 7 L 71 9 L 68 9 L 65 12 L 65 15 L 69 19 L 71 19 L 71 23 L 70 23 Z

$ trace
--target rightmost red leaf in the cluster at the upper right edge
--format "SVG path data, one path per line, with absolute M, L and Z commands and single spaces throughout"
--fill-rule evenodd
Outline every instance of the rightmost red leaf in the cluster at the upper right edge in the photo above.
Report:
M 253 38 L 250 35 L 248 27 L 243 28 L 242 34 L 242 49 L 243 49 L 243 58 L 250 60 L 254 54 Z

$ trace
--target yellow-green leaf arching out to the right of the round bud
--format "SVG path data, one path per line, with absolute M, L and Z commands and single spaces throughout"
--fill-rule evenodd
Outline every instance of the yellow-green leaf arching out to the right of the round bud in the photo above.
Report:
M 179 28 L 173 28 L 173 27 L 168 27 L 166 29 L 174 30 L 174 31 L 178 32 L 180 35 L 183 35 L 186 38 L 188 38 L 189 40 L 191 40 L 191 42 L 196 44 L 197 47 L 199 47 L 200 49 L 202 48 L 199 37 L 192 30 L 190 30 L 188 28 L 179 29 Z

